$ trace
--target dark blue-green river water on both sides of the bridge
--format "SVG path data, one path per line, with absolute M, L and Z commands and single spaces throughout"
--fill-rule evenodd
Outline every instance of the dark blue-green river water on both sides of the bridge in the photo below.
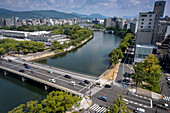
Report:
M 107 61 L 109 52 L 118 47 L 120 42 L 121 38 L 114 34 L 94 32 L 94 38 L 82 47 L 38 62 L 91 76 L 100 76 L 109 66 Z M 30 100 L 42 100 L 48 93 L 43 88 L 21 82 L 17 77 L 4 76 L 0 73 L 0 113 L 6 113 Z

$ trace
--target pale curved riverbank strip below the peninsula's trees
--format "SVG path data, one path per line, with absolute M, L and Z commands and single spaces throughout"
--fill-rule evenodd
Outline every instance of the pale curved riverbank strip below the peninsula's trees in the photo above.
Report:
M 19 58 L 26 60 L 26 61 L 32 61 L 32 60 L 38 60 L 38 59 L 43 59 L 43 58 L 47 58 L 47 57 L 52 57 L 54 55 L 58 55 L 58 54 L 62 54 L 62 53 L 68 52 L 68 51 L 72 51 L 73 49 L 76 49 L 76 48 L 82 46 L 83 44 L 87 43 L 92 38 L 93 38 L 93 36 L 91 35 L 89 38 L 83 40 L 77 46 L 70 46 L 69 48 L 65 48 L 63 51 L 60 51 L 60 52 L 59 51 L 58 52 L 44 51 L 44 52 L 40 52 L 40 53 L 23 55 L 23 56 L 20 56 Z

